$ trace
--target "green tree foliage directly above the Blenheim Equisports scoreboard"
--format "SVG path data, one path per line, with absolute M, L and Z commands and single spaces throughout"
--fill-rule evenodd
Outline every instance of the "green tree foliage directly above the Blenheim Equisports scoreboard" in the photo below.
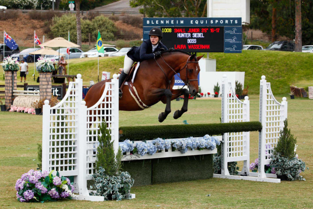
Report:
M 131 0 L 131 7 L 147 17 L 205 17 L 207 0 Z

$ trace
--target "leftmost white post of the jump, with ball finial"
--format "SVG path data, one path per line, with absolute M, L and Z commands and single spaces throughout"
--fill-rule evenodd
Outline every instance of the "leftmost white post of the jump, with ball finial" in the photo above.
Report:
M 49 172 L 49 139 L 50 139 L 50 105 L 49 100 L 44 101 L 43 105 L 43 122 L 42 122 L 42 169 Z

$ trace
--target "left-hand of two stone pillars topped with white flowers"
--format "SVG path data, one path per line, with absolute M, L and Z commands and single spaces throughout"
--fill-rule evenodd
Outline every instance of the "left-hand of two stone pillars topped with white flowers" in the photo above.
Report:
M 12 76 L 13 75 L 13 76 Z M 9 109 L 13 104 L 13 90 L 17 90 L 16 71 L 5 71 L 5 108 Z M 12 85 L 13 83 L 13 85 Z M 13 88 L 12 88 L 13 86 Z

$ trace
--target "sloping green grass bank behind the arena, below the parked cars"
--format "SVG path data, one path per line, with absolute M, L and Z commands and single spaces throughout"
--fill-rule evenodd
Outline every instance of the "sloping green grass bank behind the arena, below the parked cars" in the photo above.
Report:
M 198 53 L 198 55 L 206 53 Z M 312 53 L 243 50 L 242 53 L 209 53 L 211 59 L 216 59 L 217 71 L 244 71 L 246 87 L 249 85 L 249 94 L 259 94 L 259 83 L 262 75 L 271 82 L 272 90 L 277 94 L 290 92 L 289 86 L 304 87 L 313 86 Z M 99 74 L 108 71 L 111 77 L 123 68 L 124 57 L 100 57 Z M 31 77 L 33 75 L 33 63 L 29 63 L 29 75 L 27 82 L 31 85 L 37 83 Z M 204 69 L 202 69 L 204 70 Z M 161 72 L 161 71 L 160 71 Z M 78 58 L 69 60 L 69 74 L 82 74 L 84 85 L 89 85 L 91 80 L 98 81 L 97 58 Z M 149 76 L 149 75 L 147 75 Z M 37 79 L 38 73 L 35 72 Z M 19 75 L 18 75 L 19 80 Z M 19 82 L 18 82 L 19 83 Z M 4 80 L 0 78 L 0 84 Z M 0 90 L 2 90 L 0 88 Z

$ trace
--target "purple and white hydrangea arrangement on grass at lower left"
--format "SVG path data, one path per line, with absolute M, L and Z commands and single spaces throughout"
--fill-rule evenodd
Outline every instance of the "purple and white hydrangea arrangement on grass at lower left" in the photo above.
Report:
M 54 176 L 48 171 L 29 170 L 16 181 L 16 197 L 21 202 L 55 201 L 62 198 L 71 199 L 74 186 L 59 172 Z

